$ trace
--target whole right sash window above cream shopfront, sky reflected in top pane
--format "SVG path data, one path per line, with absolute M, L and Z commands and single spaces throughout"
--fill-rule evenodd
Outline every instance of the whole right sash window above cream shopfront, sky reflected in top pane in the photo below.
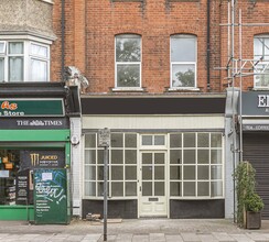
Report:
M 196 87 L 196 36 L 171 36 L 171 88 Z

